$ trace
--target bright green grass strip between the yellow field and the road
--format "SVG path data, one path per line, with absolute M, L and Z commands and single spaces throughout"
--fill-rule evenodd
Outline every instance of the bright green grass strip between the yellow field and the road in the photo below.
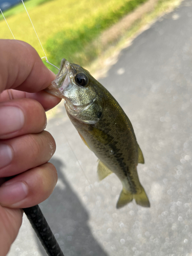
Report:
M 49 60 L 59 67 L 61 56 L 70 62 L 75 62 L 81 66 L 94 60 L 101 54 L 103 47 L 92 42 L 102 31 L 111 27 L 125 14 L 134 10 L 138 5 L 146 0 L 131 0 L 125 2 L 119 8 L 106 10 L 104 13 L 98 13 L 94 19 L 87 20 L 81 24 L 80 28 L 61 30 L 54 37 L 47 41 L 46 49 L 50 53 Z

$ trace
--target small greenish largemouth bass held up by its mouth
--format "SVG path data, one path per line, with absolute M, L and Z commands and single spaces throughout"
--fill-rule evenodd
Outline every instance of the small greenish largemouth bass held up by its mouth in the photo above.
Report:
M 99 180 L 115 173 L 122 183 L 116 207 L 135 199 L 150 207 L 139 182 L 137 164 L 144 163 L 133 126 L 115 98 L 82 67 L 62 59 L 47 91 L 65 99 L 67 114 L 83 142 L 98 157 Z

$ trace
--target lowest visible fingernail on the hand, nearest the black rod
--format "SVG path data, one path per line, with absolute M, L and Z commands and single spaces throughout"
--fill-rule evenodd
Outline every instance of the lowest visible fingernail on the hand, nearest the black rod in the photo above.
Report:
M 12 205 L 18 203 L 19 201 L 25 199 L 27 194 L 28 187 L 22 181 L 12 184 L 10 184 L 10 182 L 8 182 L 8 184 L 4 183 L 0 187 L 0 204 Z

